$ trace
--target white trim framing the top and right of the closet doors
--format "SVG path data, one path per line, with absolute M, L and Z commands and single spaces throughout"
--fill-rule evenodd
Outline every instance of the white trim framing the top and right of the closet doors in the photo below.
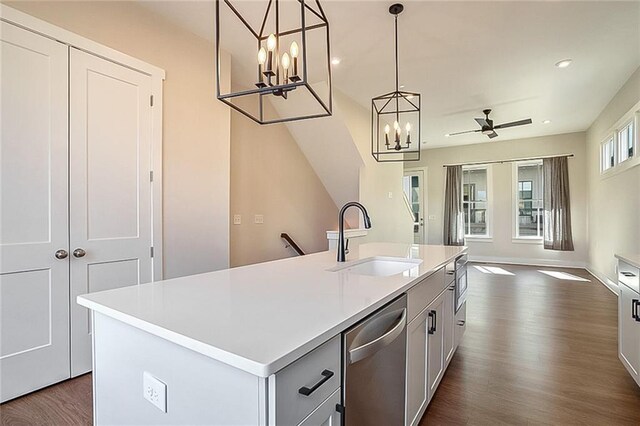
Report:
M 165 71 L 147 62 L 143 62 L 3 4 L 0 4 L 0 21 L 56 40 L 69 47 L 79 49 L 151 77 L 151 90 L 153 95 L 153 108 L 151 110 L 151 167 L 153 170 L 152 245 L 154 248 L 152 264 L 153 280 L 161 280 L 163 278 L 164 263 L 162 237 L 162 86 L 166 75 Z

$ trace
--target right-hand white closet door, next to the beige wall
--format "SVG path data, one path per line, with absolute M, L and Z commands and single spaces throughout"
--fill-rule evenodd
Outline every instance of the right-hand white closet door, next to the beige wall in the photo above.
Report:
M 71 374 L 76 376 L 91 370 L 89 311 L 76 297 L 151 281 L 151 77 L 70 52 Z

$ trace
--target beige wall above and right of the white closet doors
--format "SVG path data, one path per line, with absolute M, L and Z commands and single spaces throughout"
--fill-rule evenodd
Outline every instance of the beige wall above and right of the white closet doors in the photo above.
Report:
M 165 277 L 229 263 L 230 113 L 215 98 L 211 43 L 129 2 L 5 2 L 166 71 Z

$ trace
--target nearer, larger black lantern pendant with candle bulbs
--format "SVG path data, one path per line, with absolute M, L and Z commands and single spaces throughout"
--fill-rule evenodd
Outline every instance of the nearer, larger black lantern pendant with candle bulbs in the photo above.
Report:
M 216 0 L 215 40 L 216 95 L 231 108 L 258 124 L 332 114 L 329 22 L 318 0 Z M 222 87 L 227 53 L 232 83 Z M 247 65 L 252 80 L 242 78 Z

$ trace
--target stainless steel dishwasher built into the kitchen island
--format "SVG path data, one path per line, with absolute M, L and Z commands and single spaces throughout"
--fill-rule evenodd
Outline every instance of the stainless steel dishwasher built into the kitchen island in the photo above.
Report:
M 342 335 L 344 424 L 404 425 L 407 296 Z

